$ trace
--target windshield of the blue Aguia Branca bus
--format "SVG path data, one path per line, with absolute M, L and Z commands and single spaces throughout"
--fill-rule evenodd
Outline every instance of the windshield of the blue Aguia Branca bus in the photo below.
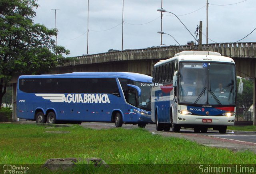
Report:
M 151 110 L 151 83 L 136 82 L 136 86 L 141 89 L 141 96 L 138 96 L 138 108 Z

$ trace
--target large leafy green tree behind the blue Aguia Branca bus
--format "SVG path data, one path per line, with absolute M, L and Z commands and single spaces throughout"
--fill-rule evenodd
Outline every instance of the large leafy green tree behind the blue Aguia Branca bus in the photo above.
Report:
M 40 74 L 64 63 L 56 29 L 34 23 L 37 0 L 0 0 L 0 107 L 13 74 Z

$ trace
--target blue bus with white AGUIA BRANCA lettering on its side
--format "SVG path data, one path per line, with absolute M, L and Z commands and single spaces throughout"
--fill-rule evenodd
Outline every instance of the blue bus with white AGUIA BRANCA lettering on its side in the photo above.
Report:
M 151 121 L 152 77 L 131 72 L 73 72 L 18 78 L 17 116 L 36 123 Z

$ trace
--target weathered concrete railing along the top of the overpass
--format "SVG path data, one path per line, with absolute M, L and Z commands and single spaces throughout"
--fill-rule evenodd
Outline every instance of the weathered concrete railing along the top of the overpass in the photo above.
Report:
M 92 55 L 82 55 L 73 57 L 74 61 L 70 61 L 63 66 L 140 59 L 167 59 L 170 57 L 174 57 L 176 53 L 183 51 L 183 49 L 186 51 L 198 50 L 198 45 L 182 45 L 181 47 L 154 47 L 145 49 L 114 51 Z M 214 51 L 220 53 L 223 56 L 232 58 L 256 58 L 256 42 L 202 44 L 202 51 Z

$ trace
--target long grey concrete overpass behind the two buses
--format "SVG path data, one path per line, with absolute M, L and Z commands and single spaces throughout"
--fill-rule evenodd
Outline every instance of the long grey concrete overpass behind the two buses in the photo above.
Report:
M 126 71 L 141 74 L 152 74 L 152 68 L 159 60 L 173 57 L 184 50 L 198 50 L 198 45 L 184 45 L 135 49 L 83 55 L 74 57 L 73 61 L 52 70 L 53 74 L 75 71 Z M 236 74 L 241 77 L 254 78 L 254 111 L 256 99 L 256 42 L 203 44 L 202 51 L 215 51 L 223 56 L 231 57 L 236 63 Z M 12 81 L 15 83 L 15 79 Z M 14 85 L 14 91 L 16 86 Z M 14 98 L 15 99 L 15 98 Z M 16 115 L 16 114 L 15 114 Z M 255 112 L 254 112 L 255 115 Z M 255 124 L 255 123 L 254 123 Z

